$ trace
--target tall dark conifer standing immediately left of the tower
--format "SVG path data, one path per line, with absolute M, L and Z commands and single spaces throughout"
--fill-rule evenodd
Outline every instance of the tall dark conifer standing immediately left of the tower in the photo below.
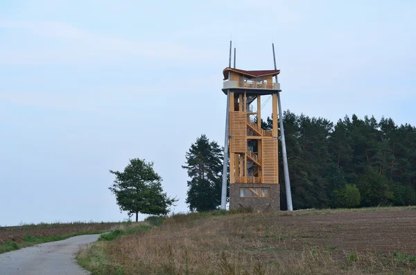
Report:
M 221 204 L 223 149 L 202 134 L 186 154 L 188 176 L 187 204 L 191 211 L 218 209 Z

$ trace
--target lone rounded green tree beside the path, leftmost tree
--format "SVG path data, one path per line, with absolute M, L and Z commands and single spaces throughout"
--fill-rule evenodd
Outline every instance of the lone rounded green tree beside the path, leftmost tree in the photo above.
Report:
M 116 196 L 120 211 L 136 214 L 166 215 L 177 199 L 163 193 L 162 177 L 153 170 L 153 163 L 144 159 L 130 159 L 123 172 L 110 170 L 116 176 L 109 187 Z

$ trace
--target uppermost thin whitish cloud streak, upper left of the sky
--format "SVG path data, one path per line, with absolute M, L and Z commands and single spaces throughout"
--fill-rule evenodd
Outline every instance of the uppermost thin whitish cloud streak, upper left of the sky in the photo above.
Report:
M 1 20 L 0 28 L 12 29 L 17 35 L 0 45 L 0 65 L 115 62 L 132 58 L 180 61 L 183 64 L 209 62 L 213 50 L 189 48 L 169 42 L 137 41 L 108 37 L 58 21 Z M 27 36 L 37 37 L 31 46 L 15 48 Z M 27 41 L 28 39 L 26 39 Z M 38 44 L 39 42 L 42 42 Z M 63 43 L 62 43 L 63 42 Z M 44 45 L 48 45 L 45 48 Z

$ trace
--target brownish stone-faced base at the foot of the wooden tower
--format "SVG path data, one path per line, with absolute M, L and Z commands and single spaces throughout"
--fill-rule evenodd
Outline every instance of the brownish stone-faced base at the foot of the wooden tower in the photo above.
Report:
M 241 188 L 270 188 L 269 197 L 243 197 Z M 229 209 L 249 208 L 254 211 L 280 211 L 279 184 L 229 184 Z

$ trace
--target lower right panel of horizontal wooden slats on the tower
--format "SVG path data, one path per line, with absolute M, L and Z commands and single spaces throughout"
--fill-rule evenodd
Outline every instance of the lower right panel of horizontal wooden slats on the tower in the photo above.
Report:
M 277 184 L 278 166 L 277 166 L 277 139 L 263 139 L 262 161 L 263 161 L 263 183 Z

